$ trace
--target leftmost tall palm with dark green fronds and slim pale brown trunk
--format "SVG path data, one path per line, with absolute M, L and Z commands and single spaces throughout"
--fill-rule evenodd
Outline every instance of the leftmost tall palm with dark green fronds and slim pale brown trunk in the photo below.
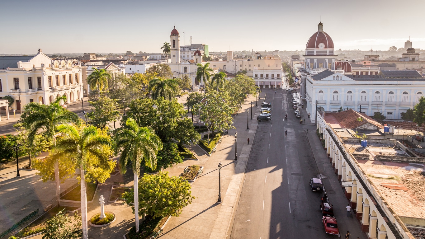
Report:
M 49 105 L 40 104 L 36 102 L 28 103 L 24 106 L 26 117 L 23 118 L 22 122 L 28 127 L 28 138 L 31 143 L 34 143 L 35 135 L 40 133 L 48 138 L 48 140 L 56 144 L 57 137 L 57 126 L 59 124 L 72 122 L 79 124 L 80 119 L 74 112 L 64 109 L 60 103 L 65 101 L 66 97 L 61 96 L 52 101 Z M 59 205 L 59 192 L 60 192 L 60 180 L 59 180 L 59 162 L 55 162 L 54 169 L 55 181 L 56 181 L 56 200 Z

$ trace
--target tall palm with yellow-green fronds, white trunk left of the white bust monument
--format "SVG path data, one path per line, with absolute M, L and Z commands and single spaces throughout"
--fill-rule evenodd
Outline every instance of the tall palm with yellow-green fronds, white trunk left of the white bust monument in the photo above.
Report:
M 58 127 L 64 137 L 59 138 L 55 146 L 54 158 L 70 157 L 80 171 L 81 186 L 81 219 L 82 238 L 87 239 L 87 193 L 85 185 L 85 170 L 91 160 L 99 160 L 100 164 L 108 165 L 108 155 L 104 146 L 111 146 L 111 140 L 100 135 L 94 126 L 78 127 L 73 124 L 61 124 Z

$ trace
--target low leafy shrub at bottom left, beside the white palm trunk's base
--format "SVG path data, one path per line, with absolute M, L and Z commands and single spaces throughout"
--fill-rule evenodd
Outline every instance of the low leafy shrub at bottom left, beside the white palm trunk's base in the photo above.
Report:
M 77 212 L 74 214 L 74 219 L 57 215 L 47 219 L 45 223 L 43 239 L 77 239 L 82 236 L 81 216 Z

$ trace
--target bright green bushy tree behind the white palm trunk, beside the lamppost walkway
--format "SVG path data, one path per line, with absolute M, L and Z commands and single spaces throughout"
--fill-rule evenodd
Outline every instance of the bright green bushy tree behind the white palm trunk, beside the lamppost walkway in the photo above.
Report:
M 139 194 L 139 215 L 146 214 L 147 218 L 178 216 L 181 209 L 195 199 L 190 192 L 190 184 L 176 176 L 169 177 L 168 172 L 144 174 L 138 186 L 138 192 L 134 185 L 134 191 L 124 193 L 125 202 L 131 205 L 135 202 L 133 194 Z

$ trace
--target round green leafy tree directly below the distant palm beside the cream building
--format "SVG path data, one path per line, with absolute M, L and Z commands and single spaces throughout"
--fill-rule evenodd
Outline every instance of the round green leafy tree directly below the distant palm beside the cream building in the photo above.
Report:
M 108 122 L 116 121 L 119 118 L 119 111 L 117 110 L 119 104 L 117 101 L 107 96 L 99 97 L 97 101 L 88 101 L 94 107 L 94 111 L 88 113 L 90 124 L 105 128 Z

